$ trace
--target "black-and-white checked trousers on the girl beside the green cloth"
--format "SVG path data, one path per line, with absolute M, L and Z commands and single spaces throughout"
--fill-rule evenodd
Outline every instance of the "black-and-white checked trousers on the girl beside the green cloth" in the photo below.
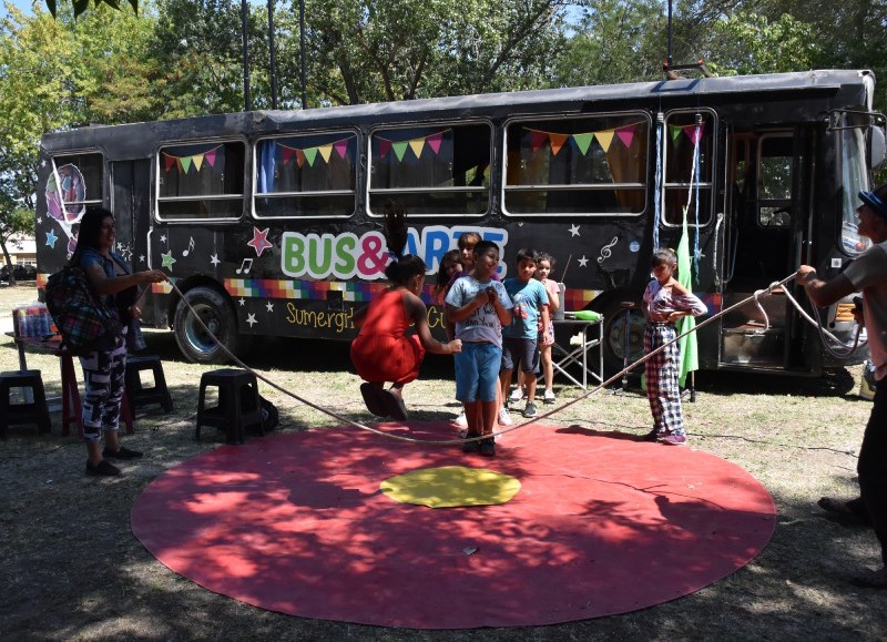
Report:
M 644 330 L 644 354 L 674 340 L 677 333 L 673 325 L 648 324 Z M 677 375 L 681 364 L 681 347 L 674 342 L 664 350 L 653 355 L 645 366 L 646 398 L 653 412 L 653 427 L 663 435 L 684 434 L 684 414 L 681 409 L 681 388 Z

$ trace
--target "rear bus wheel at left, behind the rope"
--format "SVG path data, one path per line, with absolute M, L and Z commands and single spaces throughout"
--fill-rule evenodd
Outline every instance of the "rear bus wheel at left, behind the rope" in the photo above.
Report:
M 231 358 L 218 344 L 221 343 L 235 355 L 239 344 L 237 319 L 228 302 L 222 294 L 208 287 L 195 287 L 187 291 L 185 299 L 197 313 L 203 325 L 197 322 L 185 302 L 180 300 L 173 319 L 175 343 L 179 344 L 179 349 L 192 363 L 228 363 Z M 210 332 L 206 332 L 204 325 L 210 328 Z

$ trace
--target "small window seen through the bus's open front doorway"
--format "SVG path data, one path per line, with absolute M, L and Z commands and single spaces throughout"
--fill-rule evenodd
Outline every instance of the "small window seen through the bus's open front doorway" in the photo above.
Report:
M 788 227 L 792 222 L 792 134 L 765 134 L 758 147 L 757 224 Z

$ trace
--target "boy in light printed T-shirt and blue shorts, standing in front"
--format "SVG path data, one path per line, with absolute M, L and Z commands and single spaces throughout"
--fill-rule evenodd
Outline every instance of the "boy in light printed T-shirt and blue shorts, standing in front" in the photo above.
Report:
M 499 267 L 499 247 L 491 241 L 475 245 L 475 272 L 459 278 L 447 293 L 447 318 L 456 324 L 462 351 L 456 355 L 456 398 L 465 405 L 468 420 L 465 452 L 496 455 L 499 367 L 502 363 L 502 326 L 511 323 L 511 299 L 493 279 Z M 480 441 L 475 437 L 488 436 Z

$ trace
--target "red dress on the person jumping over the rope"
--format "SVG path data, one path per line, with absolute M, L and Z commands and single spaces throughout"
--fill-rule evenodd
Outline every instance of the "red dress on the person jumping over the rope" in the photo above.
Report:
M 351 342 L 351 363 L 361 379 L 409 384 L 419 376 L 425 348 L 418 335 L 406 335 L 411 323 L 401 291 L 384 292 L 369 304 L 360 334 Z

